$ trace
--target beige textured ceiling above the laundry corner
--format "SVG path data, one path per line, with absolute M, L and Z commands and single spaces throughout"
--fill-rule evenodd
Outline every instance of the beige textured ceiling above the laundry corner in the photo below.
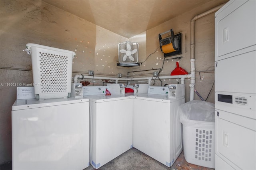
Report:
M 116 34 L 131 38 L 212 0 L 43 0 Z M 211 8 L 226 0 L 213 0 Z M 209 8 L 210 9 L 210 8 Z

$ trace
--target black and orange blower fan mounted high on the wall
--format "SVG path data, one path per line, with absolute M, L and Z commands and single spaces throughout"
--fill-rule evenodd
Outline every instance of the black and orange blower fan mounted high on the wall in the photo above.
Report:
M 163 39 L 162 36 L 165 36 Z M 164 57 L 182 54 L 182 33 L 174 35 L 173 29 L 158 34 L 161 51 Z

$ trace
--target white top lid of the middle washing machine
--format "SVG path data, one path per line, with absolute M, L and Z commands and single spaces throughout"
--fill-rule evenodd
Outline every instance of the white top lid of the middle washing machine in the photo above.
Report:
M 132 99 L 132 96 L 126 95 L 91 95 L 86 96 L 89 98 L 89 101 L 100 103 L 100 102 L 107 102 L 107 101 L 116 101 L 116 100 L 124 100 L 124 99 Z

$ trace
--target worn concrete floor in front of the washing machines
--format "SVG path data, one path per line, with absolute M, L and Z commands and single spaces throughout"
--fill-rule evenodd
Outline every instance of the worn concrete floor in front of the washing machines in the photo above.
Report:
M 8 162 L 0 167 L 0 170 L 12 170 L 12 163 Z M 94 170 L 90 165 L 84 170 Z M 189 164 L 184 158 L 183 151 L 172 167 L 168 168 L 164 164 L 154 160 L 150 156 L 140 152 L 136 148 L 131 148 L 124 154 L 121 154 L 114 160 L 108 162 L 98 170 L 214 170 L 212 168 L 206 168 Z

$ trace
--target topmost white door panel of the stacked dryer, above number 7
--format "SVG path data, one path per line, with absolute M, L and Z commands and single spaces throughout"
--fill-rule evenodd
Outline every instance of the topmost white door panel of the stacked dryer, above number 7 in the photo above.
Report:
M 255 0 L 231 0 L 216 12 L 215 61 L 232 57 L 239 50 L 243 53 L 242 49 L 256 45 L 255 8 Z

